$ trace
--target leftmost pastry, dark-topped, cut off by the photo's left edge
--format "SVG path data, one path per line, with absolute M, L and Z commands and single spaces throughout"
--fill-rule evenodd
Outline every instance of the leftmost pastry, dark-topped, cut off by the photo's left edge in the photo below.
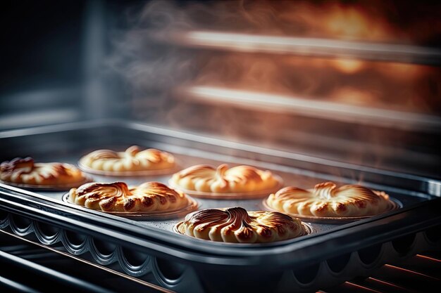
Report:
M 87 178 L 73 164 L 36 163 L 32 157 L 16 157 L 0 164 L 0 179 L 5 182 L 72 187 L 85 183 Z

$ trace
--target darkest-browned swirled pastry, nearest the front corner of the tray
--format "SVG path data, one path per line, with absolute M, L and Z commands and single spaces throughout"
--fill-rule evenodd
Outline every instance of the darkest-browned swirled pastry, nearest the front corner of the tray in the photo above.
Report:
M 299 219 L 273 211 L 247 211 L 242 207 L 203 209 L 185 216 L 181 234 L 220 242 L 263 243 L 306 234 Z

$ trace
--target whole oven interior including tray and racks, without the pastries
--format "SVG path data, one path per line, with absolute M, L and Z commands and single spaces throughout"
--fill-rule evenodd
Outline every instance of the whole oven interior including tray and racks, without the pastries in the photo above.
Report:
M 230 244 L 0 183 L 0 287 L 13 292 L 429 292 L 440 282 L 440 4 L 8 3 L 0 158 L 78 164 L 130 145 L 179 166 L 251 165 L 284 185 L 360 184 L 395 208 L 306 219 Z M 154 176 L 93 181 L 168 183 Z M 262 197 L 198 209 L 268 210 Z M 6 269 L 7 268 L 7 269 Z

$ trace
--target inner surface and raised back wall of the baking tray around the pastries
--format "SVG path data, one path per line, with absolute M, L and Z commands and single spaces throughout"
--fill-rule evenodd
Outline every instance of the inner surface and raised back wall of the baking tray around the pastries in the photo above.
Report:
M 284 186 L 294 185 L 308 189 L 317 183 L 333 181 L 337 185 L 361 184 L 373 190 L 383 190 L 390 197 L 401 203 L 403 208 L 435 198 L 430 193 L 440 184 L 437 181 L 427 180 L 418 176 L 397 174 L 376 169 L 366 169 L 359 166 L 349 166 L 315 157 L 302 157 L 297 154 L 280 152 L 260 148 L 253 145 L 221 141 L 216 138 L 205 138 L 194 134 L 180 133 L 168 129 L 159 129 L 141 124 L 116 124 L 117 126 L 77 125 L 53 126 L 49 129 L 35 131 L 21 131 L 11 134 L 10 138 L 2 138 L 0 156 L 2 159 L 11 159 L 23 154 L 31 155 L 40 161 L 51 160 L 77 165 L 78 160 L 85 154 L 99 149 L 124 150 L 130 145 L 139 145 L 141 148 L 156 148 L 169 152 L 175 156 L 180 169 L 195 164 L 228 164 L 250 165 L 265 169 L 280 176 Z M 106 125 L 106 124 L 105 124 Z M 32 135 L 30 135 L 32 134 Z M 102 174 L 88 174 L 94 182 L 111 183 L 123 181 L 128 185 L 139 185 L 146 181 L 159 181 L 168 184 L 173 174 L 145 174 L 142 176 L 104 176 Z M 28 188 L 23 188 L 31 190 Z M 35 191 L 35 190 L 31 190 Z M 66 190 L 37 190 L 39 195 L 48 197 L 61 203 L 61 208 L 67 206 L 63 202 Z M 269 194 L 268 194 L 269 195 Z M 265 197 L 263 197 L 265 198 Z M 248 211 L 268 210 L 263 205 L 262 197 L 256 199 L 228 198 L 217 200 L 210 197 L 194 197 L 198 209 L 218 207 L 242 207 Z M 399 207 L 401 209 L 402 207 Z M 77 207 L 81 208 L 81 207 Z M 98 211 L 87 211 L 91 216 L 101 214 Z M 394 213 L 395 211 L 390 211 Z M 93 214 L 93 215 L 92 215 Z M 387 215 L 387 213 L 385 213 Z M 122 218 L 116 215 L 106 215 L 106 219 Z M 384 215 L 383 215 L 384 216 Z M 166 230 L 175 237 L 173 227 L 184 219 L 185 214 L 176 215 L 173 219 L 127 219 L 140 227 L 151 227 Z M 376 216 L 373 216 L 376 217 Z M 332 230 L 344 226 L 347 222 L 325 221 L 311 224 L 314 233 Z M 356 220 L 359 221 L 359 220 Z M 363 221 L 361 219 L 360 221 Z M 352 221 L 354 223 L 354 221 Z M 349 223 L 351 225 L 351 223 Z

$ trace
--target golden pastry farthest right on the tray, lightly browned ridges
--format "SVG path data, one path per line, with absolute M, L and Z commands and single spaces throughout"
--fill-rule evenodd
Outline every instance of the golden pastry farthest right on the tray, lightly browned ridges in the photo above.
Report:
M 313 190 L 288 186 L 271 194 L 266 204 L 276 211 L 301 216 L 357 217 L 383 213 L 392 207 L 389 196 L 361 185 L 333 182 L 317 184 Z

